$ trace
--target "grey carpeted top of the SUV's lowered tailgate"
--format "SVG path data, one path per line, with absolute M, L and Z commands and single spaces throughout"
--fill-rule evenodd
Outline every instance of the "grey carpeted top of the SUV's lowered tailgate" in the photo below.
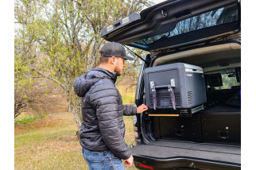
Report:
M 239 145 L 215 145 L 187 141 L 153 141 L 148 145 L 138 145 L 132 150 L 134 156 L 151 156 L 170 159 L 189 157 L 193 159 L 213 160 L 231 164 L 241 164 Z

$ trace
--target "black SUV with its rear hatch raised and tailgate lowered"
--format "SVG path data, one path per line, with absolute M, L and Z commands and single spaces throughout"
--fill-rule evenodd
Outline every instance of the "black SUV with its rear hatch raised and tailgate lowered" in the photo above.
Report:
M 101 36 L 107 41 L 149 52 L 135 96 L 137 106 L 149 107 L 134 116 L 137 145 L 131 150 L 137 168 L 241 168 L 240 21 L 238 0 L 170 0 L 103 29 Z M 147 97 L 151 92 L 146 70 L 157 72 L 177 63 L 204 70 L 203 86 L 198 87 L 203 92 L 191 95 L 205 96 L 205 101 L 194 113 L 184 114 L 177 102 L 176 110 L 166 109 L 172 99 L 161 93 L 152 109 L 154 102 Z M 157 79 L 169 76 L 161 71 Z M 178 100 L 181 92 L 173 89 Z

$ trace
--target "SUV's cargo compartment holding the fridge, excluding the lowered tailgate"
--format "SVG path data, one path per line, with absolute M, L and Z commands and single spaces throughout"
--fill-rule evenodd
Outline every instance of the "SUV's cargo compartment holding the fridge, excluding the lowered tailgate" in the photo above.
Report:
M 207 48 L 207 52 L 205 48 Z M 151 108 L 153 106 L 151 104 L 153 100 L 151 98 L 149 100 L 149 97 L 145 95 L 145 102 L 148 103 L 147 106 L 149 106 L 147 114 L 150 120 L 149 124 L 145 122 L 144 127 L 150 126 L 150 128 L 145 128 L 145 136 L 155 137 L 151 141 L 177 140 L 199 142 L 202 144 L 240 145 L 240 48 L 240 44 L 235 43 L 217 44 L 211 47 L 193 49 L 189 52 L 177 52 L 172 55 L 161 56 L 154 60 L 153 68 L 147 68 L 144 73 L 144 75 L 149 77 L 147 78 L 145 76 L 145 94 L 152 94 L 152 89 L 150 89 L 149 85 L 150 81 L 154 81 L 155 86 L 158 86 L 158 84 L 167 84 L 170 81 L 169 79 L 176 80 L 177 78 L 173 77 L 174 74 L 167 74 L 168 72 L 165 70 L 179 61 L 184 63 L 185 69 L 184 73 L 179 73 L 184 76 L 184 80 L 176 81 L 176 85 L 173 87 L 175 97 L 177 96 L 176 93 L 179 93 L 179 96 L 176 98 L 176 103 L 188 101 L 187 108 L 189 108 L 192 106 L 189 105 L 190 101 L 192 101 L 192 104 L 197 102 L 196 105 L 204 104 L 204 110 L 183 116 L 179 114 L 179 112 L 181 113 L 181 109 L 183 110 L 186 107 L 181 106 L 181 103 L 180 110 L 178 110 L 178 104 L 177 110 L 173 110 L 172 101 L 167 88 L 163 90 L 156 89 L 156 110 L 150 109 L 150 106 Z M 179 60 L 176 60 L 176 58 Z M 189 67 L 201 67 L 204 69 L 204 73 L 194 68 L 192 69 L 193 71 L 189 71 L 186 64 L 193 65 L 189 65 Z M 153 71 L 151 72 L 157 76 L 150 78 L 150 69 L 152 69 Z M 161 69 L 163 69 L 162 73 Z M 182 72 L 182 69 L 178 72 Z M 204 82 L 198 77 L 203 78 Z M 163 79 L 165 79 L 165 81 L 163 81 Z M 164 91 L 167 95 L 164 94 Z M 189 93 L 190 91 L 192 92 Z M 206 100 L 200 100 L 199 97 L 204 95 L 206 96 Z M 163 105 L 162 103 L 165 104 L 165 101 L 170 104 L 166 106 Z M 161 116 L 157 116 L 157 114 Z M 145 118 L 147 118 L 148 115 L 145 115 Z

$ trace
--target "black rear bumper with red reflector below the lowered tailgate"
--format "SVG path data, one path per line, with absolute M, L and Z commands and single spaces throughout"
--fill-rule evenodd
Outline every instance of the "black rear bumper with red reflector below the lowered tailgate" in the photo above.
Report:
M 194 159 L 190 157 L 177 156 L 172 158 L 157 158 L 152 156 L 136 156 L 134 155 L 134 164 L 136 168 L 142 168 L 138 164 L 145 164 L 153 169 L 169 169 L 174 168 L 193 168 L 193 169 L 211 169 L 211 170 L 237 170 L 241 169 L 241 164 L 233 164 L 228 162 L 219 162 L 213 160 Z

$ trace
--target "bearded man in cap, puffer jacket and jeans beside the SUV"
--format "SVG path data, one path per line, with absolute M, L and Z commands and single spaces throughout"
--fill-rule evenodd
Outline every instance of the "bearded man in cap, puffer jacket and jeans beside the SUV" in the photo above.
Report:
M 114 83 L 122 75 L 126 56 L 122 44 L 111 42 L 103 46 L 99 68 L 80 76 L 74 83 L 76 94 L 82 99 L 83 122 L 80 144 L 89 169 L 125 169 L 133 164 L 133 156 L 124 141 L 123 115 L 140 114 L 147 106 L 122 105 L 122 98 Z

